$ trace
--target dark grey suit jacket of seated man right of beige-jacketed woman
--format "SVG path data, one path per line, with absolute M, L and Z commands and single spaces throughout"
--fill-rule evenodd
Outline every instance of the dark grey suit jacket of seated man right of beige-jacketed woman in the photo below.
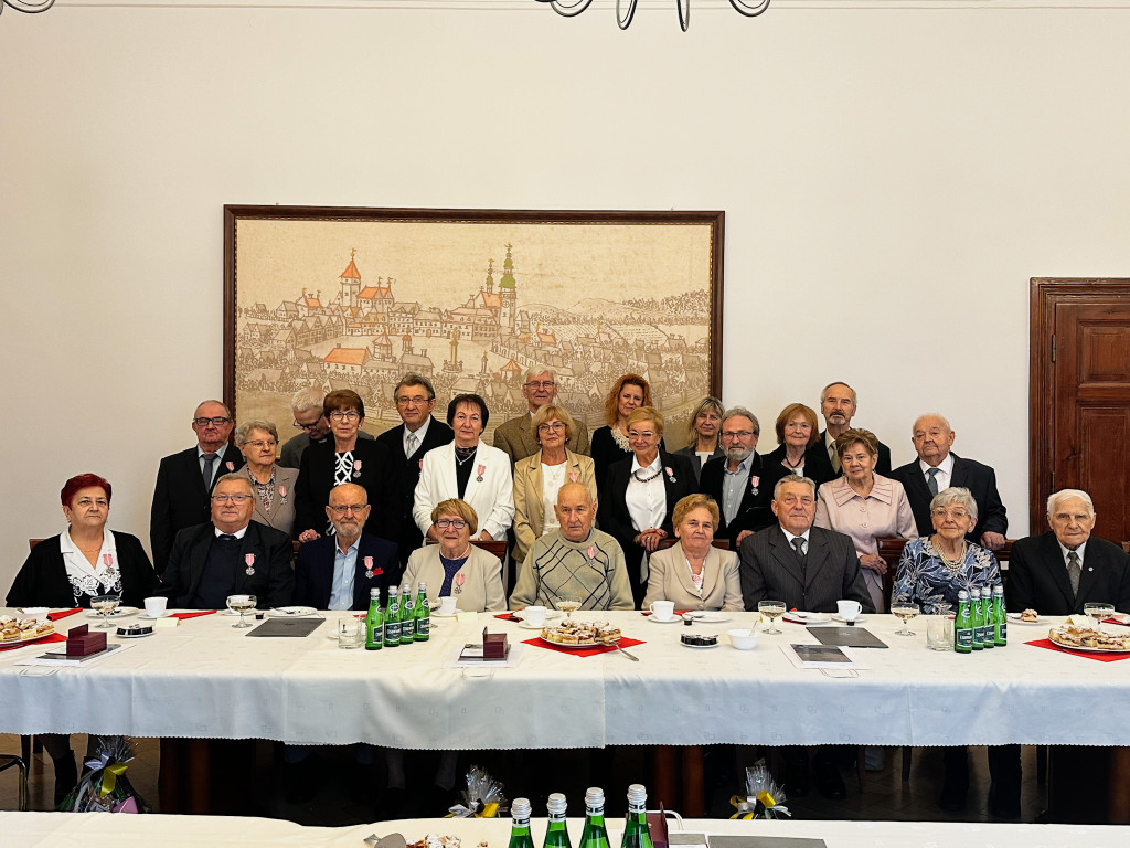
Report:
M 781 525 L 747 536 L 738 572 L 749 611 L 757 609 L 758 600 L 783 600 L 789 609 L 834 613 L 837 600 L 849 599 L 858 600 L 866 613 L 875 612 L 855 546 L 850 536 L 835 530 L 811 529 L 803 573 Z

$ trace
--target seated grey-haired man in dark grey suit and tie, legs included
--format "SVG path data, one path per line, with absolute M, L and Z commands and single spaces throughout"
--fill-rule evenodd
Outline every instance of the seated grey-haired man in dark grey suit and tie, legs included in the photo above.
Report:
M 858 600 L 866 612 L 875 612 L 860 572 L 859 556 L 851 537 L 812 527 L 816 519 L 816 483 L 790 474 L 773 491 L 773 527 L 755 533 L 741 543 L 739 572 L 746 609 L 758 600 L 783 600 L 789 609 L 834 613 L 836 602 Z M 808 794 L 808 752 L 786 747 L 783 752 L 789 795 Z M 817 788 L 826 798 L 846 794 L 833 749 L 820 746 L 814 760 Z

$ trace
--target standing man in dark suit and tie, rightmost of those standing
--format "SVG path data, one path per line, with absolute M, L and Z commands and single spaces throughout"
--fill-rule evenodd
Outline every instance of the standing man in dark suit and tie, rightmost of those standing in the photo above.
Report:
M 1008 533 L 1008 514 L 997 491 L 997 473 L 986 465 L 950 453 L 955 436 L 949 422 L 940 415 L 920 415 L 911 433 L 919 458 L 893 470 L 890 477 L 906 490 L 920 536 L 933 533 L 930 501 L 938 492 L 950 486 L 970 490 L 977 504 L 977 522 L 966 538 L 999 551 Z

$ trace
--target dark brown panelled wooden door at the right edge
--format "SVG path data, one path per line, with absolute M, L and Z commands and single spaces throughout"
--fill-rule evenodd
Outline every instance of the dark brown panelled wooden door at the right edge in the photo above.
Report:
M 1031 533 L 1081 488 L 1095 535 L 1130 540 L 1130 279 L 1032 280 Z

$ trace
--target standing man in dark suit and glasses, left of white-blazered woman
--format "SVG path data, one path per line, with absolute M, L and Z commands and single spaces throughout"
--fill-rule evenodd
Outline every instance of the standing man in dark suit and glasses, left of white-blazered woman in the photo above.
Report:
M 420 481 L 424 455 L 454 439 L 451 427 L 433 417 L 435 389 L 421 374 L 405 374 L 392 390 L 397 414 L 402 422 L 376 438 L 383 445 L 389 466 L 385 507 L 385 537 L 395 542 L 400 568 L 408 564 L 412 551 L 424 544 L 424 534 L 412 518 L 416 484 Z

